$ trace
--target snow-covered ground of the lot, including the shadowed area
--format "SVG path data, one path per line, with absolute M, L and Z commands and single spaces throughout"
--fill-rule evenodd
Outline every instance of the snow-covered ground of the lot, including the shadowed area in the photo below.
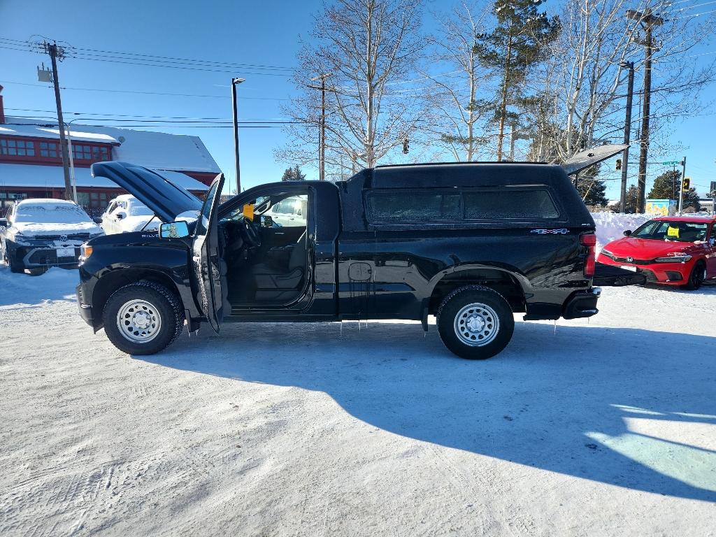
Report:
M 130 357 L 0 265 L 0 535 L 713 536 L 716 286 L 605 289 L 498 357 L 240 324 Z

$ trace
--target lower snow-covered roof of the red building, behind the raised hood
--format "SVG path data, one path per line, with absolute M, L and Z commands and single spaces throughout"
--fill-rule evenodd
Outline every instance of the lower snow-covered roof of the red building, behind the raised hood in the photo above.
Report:
M 208 190 L 208 186 L 173 170 L 155 170 L 168 180 L 187 190 Z M 89 168 L 74 168 L 78 187 L 118 188 L 116 183 L 104 177 L 92 177 Z M 0 189 L 3 187 L 64 188 L 62 166 L 28 164 L 0 164 Z

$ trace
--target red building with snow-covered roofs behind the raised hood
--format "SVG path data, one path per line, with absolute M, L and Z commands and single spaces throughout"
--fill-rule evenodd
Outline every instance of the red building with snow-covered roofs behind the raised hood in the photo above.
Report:
M 125 193 L 108 179 L 92 177 L 89 167 L 95 162 L 142 165 L 195 195 L 203 195 L 221 172 L 196 136 L 72 124 L 69 144 L 77 203 L 91 214 L 102 213 L 109 200 Z M 6 116 L 0 95 L 0 215 L 21 198 L 64 198 L 59 128 L 57 122 Z

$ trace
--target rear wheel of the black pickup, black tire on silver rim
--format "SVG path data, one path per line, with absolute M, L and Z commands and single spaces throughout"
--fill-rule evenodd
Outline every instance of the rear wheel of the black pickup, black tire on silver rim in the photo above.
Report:
M 468 308 L 471 305 L 475 305 L 474 311 Z M 473 323 L 474 330 L 465 324 L 465 320 Z M 437 310 L 440 339 L 461 358 L 483 360 L 495 356 L 507 347 L 514 331 L 515 319 L 510 304 L 489 287 L 475 285 L 455 289 Z M 471 340 L 469 344 L 468 339 Z

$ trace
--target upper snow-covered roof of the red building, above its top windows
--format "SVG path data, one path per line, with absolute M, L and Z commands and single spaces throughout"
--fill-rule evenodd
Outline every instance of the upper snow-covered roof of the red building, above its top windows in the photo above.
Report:
M 6 122 L 23 124 L 42 122 L 57 125 L 56 121 L 45 122 L 24 117 L 6 117 Z M 57 127 L 0 124 L 0 135 L 33 136 L 26 132 L 44 133 L 46 135 L 44 137 L 52 137 L 50 134 L 55 132 L 57 135 L 54 137 L 59 137 Z M 221 173 L 216 161 L 198 136 L 76 124 L 71 125 L 70 132 L 72 140 L 119 144 L 112 148 L 112 160 L 122 160 L 157 170 Z M 42 134 L 34 134 L 34 136 L 42 136 Z

